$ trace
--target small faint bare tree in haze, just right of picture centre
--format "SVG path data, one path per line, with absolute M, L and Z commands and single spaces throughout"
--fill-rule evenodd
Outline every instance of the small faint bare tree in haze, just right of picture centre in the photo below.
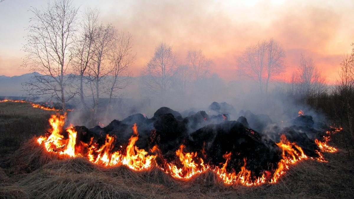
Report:
M 210 73 L 211 60 L 207 59 L 201 50 L 188 51 L 187 62 L 193 71 L 196 84 Z

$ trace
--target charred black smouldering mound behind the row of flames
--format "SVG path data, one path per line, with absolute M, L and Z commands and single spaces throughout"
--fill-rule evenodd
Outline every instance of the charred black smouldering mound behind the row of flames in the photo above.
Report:
M 89 143 L 93 137 L 93 141 L 100 145 L 105 143 L 108 134 L 116 137 L 113 150 L 124 150 L 132 136 L 132 126 L 136 123 L 139 133 L 137 147 L 150 152 L 149 149 L 157 145 L 166 161 L 177 162 L 176 150 L 183 144 L 184 152 L 197 152 L 205 163 L 214 166 L 223 164 L 223 155 L 231 152 L 229 171 L 239 171 L 246 158 L 246 169 L 256 176 L 276 169 L 282 151 L 275 143 L 280 141 L 282 134 L 302 147 L 306 155 L 318 156 L 314 139 L 321 137 L 324 130 L 314 127 L 311 116 L 299 116 L 290 126 L 279 127 L 272 123 L 268 115 L 255 115 L 250 111 L 242 111 L 237 121 L 229 121 L 229 112 L 222 112 L 227 107 L 227 104 L 212 103 L 210 109 L 219 114 L 209 115 L 200 110 L 190 112 L 184 118 L 175 110 L 161 107 L 152 118 L 134 114 L 122 121 L 113 120 L 105 127 L 88 129 L 75 126 L 78 132 L 76 142 Z M 269 124 L 272 125 L 269 127 Z M 263 132 L 265 127 L 268 133 Z M 158 161 L 158 164 L 163 162 Z

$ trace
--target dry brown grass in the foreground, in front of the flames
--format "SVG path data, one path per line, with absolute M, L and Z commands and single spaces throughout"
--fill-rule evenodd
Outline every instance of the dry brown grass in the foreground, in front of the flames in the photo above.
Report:
M 329 141 L 324 138 L 322 145 Z M 288 142 L 283 139 L 278 144 Z M 289 144 L 288 144 L 289 145 Z M 294 144 L 292 149 L 301 157 Z M 325 149 L 323 149 L 325 150 Z M 292 158 L 287 150 L 286 158 Z M 186 154 L 183 152 L 182 154 Z M 125 153 L 122 153 L 125 154 Z M 156 164 L 132 170 L 129 165 L 105 166 L 87 158 L 48 152 L 38 137 L 7 156 L 0 170 L 4 198 L 350 198 L 354 194 L 353 161 L 343 150 L 323 152 L 327 163 L 303 158 L 288 165 L 276 183 L 246 187 L 225 184 L 207 169 L 188 179 L 166 174 Z

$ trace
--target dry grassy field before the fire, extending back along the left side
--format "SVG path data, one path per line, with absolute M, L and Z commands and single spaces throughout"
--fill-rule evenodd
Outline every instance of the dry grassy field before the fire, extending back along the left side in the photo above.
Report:
M 354 160 L 333 135 L 336 153 L 327 163 L 304 160 L 275 184 L 225 186 L 206 172 L 188 181 L 159 169 L 100 167 L 85 159 L 61 160 L 31 140 L 48 129 L 55 112 L 27 103 L 0 103 L 0 197 L 2 198 L 353 198 Z M 339 139 L 338 139 L 339 140 Z

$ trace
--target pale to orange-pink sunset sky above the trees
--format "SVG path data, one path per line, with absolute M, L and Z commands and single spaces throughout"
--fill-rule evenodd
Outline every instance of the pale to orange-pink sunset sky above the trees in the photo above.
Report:
M 74 0 L 79 10 L 98 8 L 101 20 L 133 37 L 134 76 L 165 41 L 183 61 L 188 50 L 202 50 L 212 59 L 212 72 L 226 81 L 240 78 L 236 59 L 248 45 L 274 38 L 286 52 L 285 81 L 299 65 L 301 53 L 312 58 L 328 83 L 338 77 L 339 63 L 354 42 L 354 1 L 306 0 L 173 0 L 118 1 Z M 22 75 L 21 50 L 25 28 L 47 0 L 0 2 L 0 75 Z

